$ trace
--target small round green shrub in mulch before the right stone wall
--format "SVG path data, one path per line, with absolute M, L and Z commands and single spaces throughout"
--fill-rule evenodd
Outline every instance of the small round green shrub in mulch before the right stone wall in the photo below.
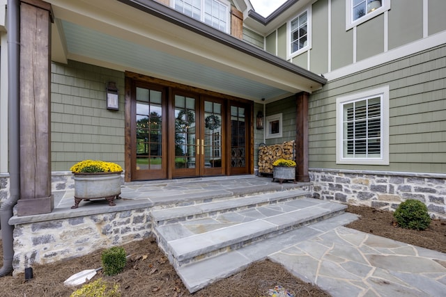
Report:
M 425 230 L 431 223 L 426 204 L 415 199 L 401 202 L 393 216 L 398 225 L 406 229 Z

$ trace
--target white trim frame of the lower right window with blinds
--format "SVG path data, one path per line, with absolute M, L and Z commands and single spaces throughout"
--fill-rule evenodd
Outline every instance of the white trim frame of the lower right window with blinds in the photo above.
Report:
M 381 102 L 381 153 L 380 158 L 344 158 L 342 150 L 343 104 L 373 96 L 382 96 Z M 355 93 L 336 99 L 336 163 L 361 165 L 389 165 L 389 86 L 383 86 L 362 93 Z

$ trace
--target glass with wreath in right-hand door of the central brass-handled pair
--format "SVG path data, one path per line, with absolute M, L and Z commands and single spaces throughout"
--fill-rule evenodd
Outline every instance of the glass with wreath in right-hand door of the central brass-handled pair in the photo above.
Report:
M 204 167 L 222 167 L 222 104 L 204 102 Z

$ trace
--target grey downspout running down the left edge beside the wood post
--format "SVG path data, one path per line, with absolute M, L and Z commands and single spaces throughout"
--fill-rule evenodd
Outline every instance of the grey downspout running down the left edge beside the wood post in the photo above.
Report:
M 9 198 L 1 203 L 0 223 L 3 241 L 3 267 L 0 277 L 13 271 L 13 230 L 8 220 L 20 198 L 20 0 L 7 2 L 8 29 L 8 161 Z

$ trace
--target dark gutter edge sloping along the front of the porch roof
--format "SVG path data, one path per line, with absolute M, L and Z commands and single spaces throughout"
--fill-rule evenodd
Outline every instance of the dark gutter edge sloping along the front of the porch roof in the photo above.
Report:
M 238 51 L 241 51 L 245 54 L 249 54 L 255 58 L 259 58 L 262 61 L 275 65 L 277 67 L 281 67 L 282 69 L 292 72 L 294 74 L 298 74 L 301 77 L 305 77 L 306 79 L 312 80 L 316 83 L 321 83 L 325 85 L 327 83 L 327 79 L 324 77 L 315 74 L 309 70 L 305 70 L 304 68 L 295 65 L 293 63 L 289 63 L 278 56 L 268 53 L 268 51 L 263 51 L 263 49 L 259 49 L 254 47 L 253 45 L 247 44 L 243 40 L 239 40 L 227 33 L 224 33 L 220 30 L 214 29 L 211 26 L 204 24 L 203 22 L 199 22 L 196 19 L 192 19 L 192 17 L 188 17 L 183 13 L 179 13 L 178 11 L 165 6 L 164 4 L 158 3 L 157 1 L 150 0 L 118 0 L 121 3 L 132 6 L 138 10 L 144 11 L 145 13 L 149 13 L 154 15 L 155 17 L 160 17 L 161 19 L 166 20 L 167 22 L 171 22 L 178 26 L 181 26 L 187 30 L 190 30 L 194 33 L 202 35 L 203 37 L 209 38 L 216 42 L 220 42 L 223 45 L 228 47 L 232 47 Z M 289 0 L 288 2 L 295 2 L 298 0 Z M 282 6 L 281 6 L 282 8 Z M 251 12 L 252 10 L 250 10 Z M 277 11 L 277 10 L 276 10 Z

